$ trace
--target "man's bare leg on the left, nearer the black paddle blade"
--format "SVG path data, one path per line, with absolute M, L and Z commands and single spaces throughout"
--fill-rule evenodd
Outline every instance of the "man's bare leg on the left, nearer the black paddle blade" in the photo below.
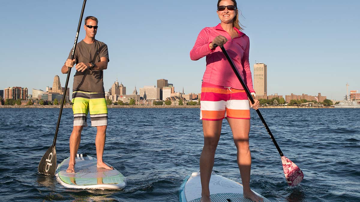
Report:
M 80 145 L 81 131 L 84 126 L 74 126 L 70 136 L 70 161 L 67 173 L 75 173 L 75 158 Z

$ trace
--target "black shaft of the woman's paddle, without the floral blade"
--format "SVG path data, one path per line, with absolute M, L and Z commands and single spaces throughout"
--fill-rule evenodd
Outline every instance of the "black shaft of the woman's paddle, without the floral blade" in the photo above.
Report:
M 213 46 L 214 46 L 214 48 L 217 47 L 216 44 L 214 44 Z M 235 67 L 233 61 L 232 61 L 231 58 L 229 57 L 228 52 L 226 52 L 224 46 L 222 46 L 222 47 L 220 47 L 220 48 L 221 48 L 222 52 L 224 53 L 226 59 L 228 59 L 231 68 L 233 68 L 234 73 L 235 73 L 235 75 L 238 77 L 241 85 L 243 86 L 243 88 L 244 88 L 244 90 L 245 90 L 245 92 L 246 92 L 246 95 L 249 97 L 249 100 L 251 101 L 252 104 L 254 104 L 255 101 L 254 101 L 254 99 L 253 99 L 252 96 L 251 96 L 251 93 L 250 93 L 250 91 L 249 91 L 249 88 L 246 86 L 246 84 L 244 83 L 243 78 L 240 76 L 239 70 Z M 265 126 L 265 128 L 266 128 L 266 130 L 267 130 L 267 133 L 269 133 L 271 140 L 274 142 L 276 149 L 278 149 L 278 152 L 279 152 L 280 156 L 284 156 L 283 152 L 280 150 L 280 147 L 279 147 L 278 143 L 276 142 L 276 140 L 275 140 L 275 138 L 274 138 L 274 136 L 273 136 L 273 133 L 271 133 L 269 126 L 267 126 L 264 117 L 262 117 L 262 115 L 261 115 L 261 113 L 260 113 L 260 110 L 257 109 L 256 112 L 257 112 L 257 115 L 259 115 L 262 123 L 264 124 L 264 126 Z

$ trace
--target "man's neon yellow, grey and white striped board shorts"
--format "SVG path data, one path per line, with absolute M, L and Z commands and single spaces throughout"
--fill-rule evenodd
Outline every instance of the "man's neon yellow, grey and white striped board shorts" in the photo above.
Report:
M 104 93 L 72 92 L 72 111 L 74 126 L 87 126 L 86 118 L 89 112 L 91 126 L 108 125 L 108 109 Z

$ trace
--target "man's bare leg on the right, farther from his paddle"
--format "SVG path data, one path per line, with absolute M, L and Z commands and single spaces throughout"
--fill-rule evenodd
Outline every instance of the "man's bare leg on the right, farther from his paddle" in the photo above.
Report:
M 112 170 L 114 168 L 106 165 L 103 161 L 103 153 L 104 153 L 105 139 L 106 139 L 106 127 L 107 127 L 106 125 L 96 127 L 98 129 L 95 138 L 96 157 L 98 159 L 97 167 L 102 167 L 105 169 Z

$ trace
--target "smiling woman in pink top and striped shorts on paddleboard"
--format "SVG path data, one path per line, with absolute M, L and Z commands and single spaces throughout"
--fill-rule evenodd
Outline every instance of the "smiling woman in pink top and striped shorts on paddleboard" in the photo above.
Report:
M 235 0 L 219 0 L 217 14 L 221 20 L 220 24 L 202 29 L 190 51 L 192 60 L 206 56 L 200 112 L 204 130 L 204 147 L 200 157 L 201 201 L 210 201 L 209 182 L 215 150 L 220 139 L 222 119 L 226 118 L 237 147 L 237 161 L 244 197 L 261 202 L 263 199 L 253 193 L 249 185 L 251 170 L 249 108 L 258 109 L 260 103 L 258 100 L 255 100 L 254 104 L 249 102 L 246 92 L 220 49 L 221 46 L 225 47 L 255 98 L 249 65 L 249 38 L 240 31 L 242 28 L 239 25 Z M 214 44 L 220 47 L 214 48 Z

